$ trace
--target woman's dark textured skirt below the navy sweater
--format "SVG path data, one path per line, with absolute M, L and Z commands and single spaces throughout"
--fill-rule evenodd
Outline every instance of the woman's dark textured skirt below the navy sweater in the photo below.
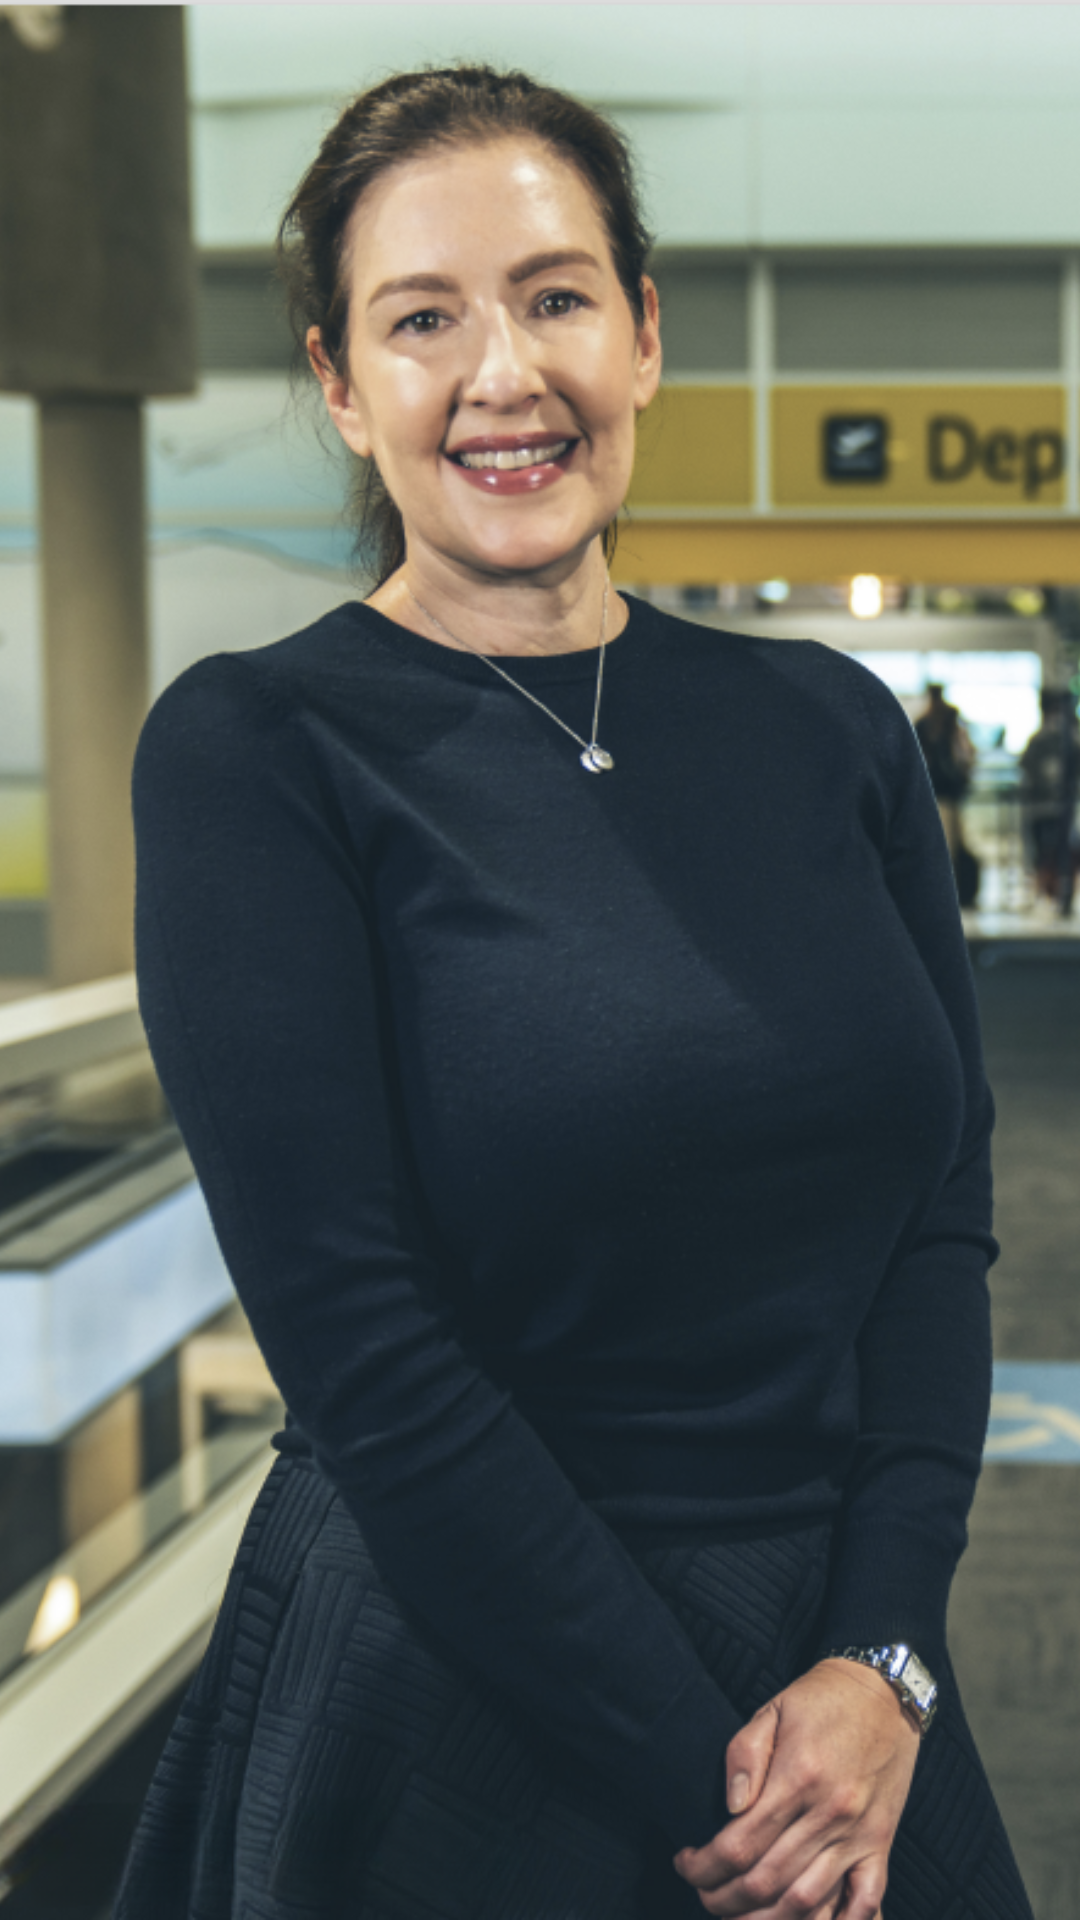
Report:
M 749 1716 L 805 1670 L 830 1530 L 630 1548 Z M 398 1605 L 317 1467 L 275 1463 L 113 1920 L 694 1920 L 673 1845 Z M 886 1920 L 1030 1920 L 947 1672 Z

